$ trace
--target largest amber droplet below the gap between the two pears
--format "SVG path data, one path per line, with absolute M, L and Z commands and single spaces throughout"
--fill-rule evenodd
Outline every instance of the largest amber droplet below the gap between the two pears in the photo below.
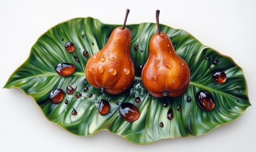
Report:
M 119 108 L 119 114 L 127 122 L 134 122 L 140 116 L 140 111 L 132 103 L 122 103 Z

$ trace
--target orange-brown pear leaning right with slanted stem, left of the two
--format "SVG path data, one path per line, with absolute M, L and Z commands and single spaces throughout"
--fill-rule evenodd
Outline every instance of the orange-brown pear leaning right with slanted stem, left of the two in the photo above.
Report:
M 126 10 L 123 27 L 112 31 L 101 51 L 91 56 L 85 67 L 85 76 L 93 87 L 109 94 L 120 94 L 133 83 L 135 69 L 130 56 L 131 32 L 125 27 L 130 10 Z

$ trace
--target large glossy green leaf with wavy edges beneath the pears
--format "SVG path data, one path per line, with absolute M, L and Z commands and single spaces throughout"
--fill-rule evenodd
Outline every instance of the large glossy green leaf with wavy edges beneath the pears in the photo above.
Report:
M 30 56 L 6 83 L 6 88 L 16 87 L 32 96 L 46 118 L 65 130 L 80 136 L 90 136 L 99 130 L 110 130 L 133 143 L 152 143 L 159 139 L 199 136 L 215 127 L 227 124 L 241 116 L 250 106 L 245 77 L 241 68 L 227 56 L 204 46 L 184 30 L 161 25 L 161 30 L 172 39 L 175 51 L 191 68 L 191 82 L 187 91 L 176 98 L 154 98 L 143 87 L 140 73 L 136 71 L 135 82 L 128 91 L 111 95 L 93 88 L 84 77 L 86 61 L 97 53 L 108 40 L 112 30 L 119 25 L 107 25 L 94 18 L 76 18 L 51 28 L 43 34 L 31 49 Z M 127 25 L 131 30 L 131 58 L 135 69 L 144 65 L 149 54 L 149 41 L 157 28 L 154 23 Z M 74 54 L 65 50 L 65 43 L 74 43 Z M 133 46 L 138 42 L 138 50 Z M 88 51 L 88 56 L 83 56 Z M 213 65 L 213 61 L 219 61 Z M 72 63 L 76 71 L 69 77 L 55 72 L 58 63 Z M 227 75 L 224 84 L 212 79 L 213 72 L 222 70 Z M 59 104 L 50 102 L 50 92 L 67 85 L 76 87 L 73 95 L 65 94 Z M 88 91 L 84 91 L 88 87 Z M 201 110 L 196 103 L 198 91 L 208 91 L 215 101 L 211 111 Z M 76 98 L 76 94 L 81 98 Z M 90 96 L 90 97 L 89 97 Z M 191 97 L 191 102 L 187 101 Z M 141 103 L 136 103 L 139 97 Z M 65 99 L 69 101 L 65 104 Z M 98 113 L 100 100 L 109 101 L 111 109 L 107 115 Z M 135 122 L 126 122 L 119 115 L 121 103 L 133 103 L 140 111 Z M 168 105 L 166 105 L 166 103 Z M 165 106 L 167 107 L 165 107 Z M 177 106 L 181 106 L 181 111 Z M 77 115 L 72 115 L 73 108 Z M 166 115 L 172 108 L 173 119 Z M 163 127 L 159 124 L 163 123 Z

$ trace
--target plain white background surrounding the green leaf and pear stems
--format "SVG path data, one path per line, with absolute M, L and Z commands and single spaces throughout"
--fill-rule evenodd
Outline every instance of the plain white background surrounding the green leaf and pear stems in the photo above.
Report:
M 256 1 L 11 1 L 0 0 L 0 151 L 255 151 Z M 76 17 L 104 23 L 160 22 L 182 28 L 203 44 L 231 56 L 244 70 L 252 106 L 235 122 L 199 137 L 137 145 L 102 131 L 79 137 L 48 122 L 32 98 L 2 89 L 29 56 L 30 47 L 49 28 Z M 254 150 L 253 150 L 254 149 Z

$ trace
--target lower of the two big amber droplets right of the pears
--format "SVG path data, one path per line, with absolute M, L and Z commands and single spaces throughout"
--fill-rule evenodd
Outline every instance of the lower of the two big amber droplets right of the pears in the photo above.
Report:
M 212 95 L 207 91 L 199 91 L 196 94 L 196 102 L 202 110 L 212 110 L 215 106 Z

